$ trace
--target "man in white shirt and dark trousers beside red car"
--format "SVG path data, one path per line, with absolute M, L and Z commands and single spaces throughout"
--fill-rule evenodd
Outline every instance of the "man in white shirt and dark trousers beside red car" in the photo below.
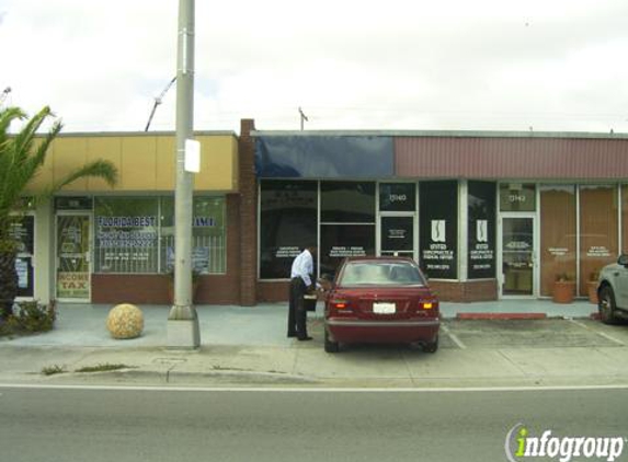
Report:
M 313 256 L 316 246 L 306 247 L 297 255 L 290 269 L 290 294 L 288 309 L 288 337 L 297 337 L 299 340 L 311 340 L 307 331 L 307 311 L 304 296 L 308 291 L 316 290 L 312 281 Z

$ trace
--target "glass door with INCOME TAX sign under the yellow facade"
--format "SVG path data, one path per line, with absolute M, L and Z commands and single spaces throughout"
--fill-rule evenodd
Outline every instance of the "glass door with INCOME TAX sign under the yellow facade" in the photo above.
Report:
M 90 300 L 90 216 L 57 216 L 57 299 Z

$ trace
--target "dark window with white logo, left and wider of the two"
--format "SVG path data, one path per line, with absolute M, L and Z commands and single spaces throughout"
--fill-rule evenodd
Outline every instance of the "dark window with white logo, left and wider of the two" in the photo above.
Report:
M 431 278 L 458 278 L 458 183 L 420 185 L 421 268 Z

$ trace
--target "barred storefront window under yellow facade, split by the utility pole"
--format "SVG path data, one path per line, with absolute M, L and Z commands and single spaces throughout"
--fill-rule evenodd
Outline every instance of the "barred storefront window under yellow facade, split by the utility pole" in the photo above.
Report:
M 192 268 L 202 274 L 226 272 L 225 198 L 194 196 L 192 203 Z M 161 272 L 174 268 L 174 198 L 161 198 Z

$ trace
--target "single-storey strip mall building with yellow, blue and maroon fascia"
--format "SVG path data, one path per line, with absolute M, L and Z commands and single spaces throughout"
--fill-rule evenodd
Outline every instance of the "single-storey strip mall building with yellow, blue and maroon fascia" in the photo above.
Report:
M 578 294 L 628 252 L 628 136 L 454 131 L 198 132 L 193 265 L 198 304 L 286 300 L 289 265 L 352 255 L 416 259 L 442 300 Z M 170 303 L 174 134 L 61 135 L 35 192 L 93 159 L 84 180 L 32 208 L 15 236 L 24 298 Z

